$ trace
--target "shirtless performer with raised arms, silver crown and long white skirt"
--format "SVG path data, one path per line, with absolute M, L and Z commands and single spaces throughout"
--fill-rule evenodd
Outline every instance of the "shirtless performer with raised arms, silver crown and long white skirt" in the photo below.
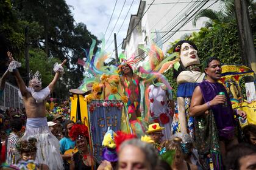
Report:
M 30 78 L 29 87 L 26 87 L 18 72 L 20 63 L 13 60 L 12 53 L 8 53 L 8 55 L 10 60 L 12 60 L 8 69 L 15 76 L 27 114 L 26 131 L 21 140 L 29 140 L 30 137 L 37 138 L 38 151 L 35 161 L 48 165 L 49 169 L 64 169 L 59 141 L 52 135 L 47 124 L 45 103 L 46 98 L 53 92 L 60 73 L 64 72 L 62 66 L 66 63 L 66 60 L 62 64 L 54 64 L 54 79 L 46 88 L 42 89 L 40 73 L 37 71 Z

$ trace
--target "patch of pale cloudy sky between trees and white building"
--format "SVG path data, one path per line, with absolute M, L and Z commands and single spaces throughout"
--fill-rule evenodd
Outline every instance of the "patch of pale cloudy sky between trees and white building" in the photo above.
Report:
M 113 42 L 113 33 L 118 33 L 118 30 L 129 12 L 123 26 L 121 27 L 121 30 L 119 31 L 118 35 L 116 35 L 117 46 L 123 42 L 123 38 L 126 38 L 130 15 L 137 14 L 138 6 L 140 4 L 140 0 L 119 0 L 117 1 L 115 7 L 115 2 L 116 0 L 66 0 L 66 4 L 70 5 L 69 8 L 73 13 L 75 21 L 77 23 L 84 22 L 84 24 L 87 25 L 87 29 L 93 33 L 93 35 L 96 35 L 98 39 L 103 37 L 105 31 L 107 30 L 105 33 L 105 41 L 107 42 L 105 48 L 108 47 L 108 52 L 113 52 L 115 47 Z M 124 2 L 126 3 L 124 4 Z M 115 11 L 110 21 L 114 7 Z M 119 16 L 122 7 L 123 11 Z M 116 22 L 117 20 L 118 22 Z M 107 29 L 109 21 L 110 25 Z M 113 30 L 114 26 L 115 29 Z M 120 52 L 121 46 L 118 49 L 118 53 Z

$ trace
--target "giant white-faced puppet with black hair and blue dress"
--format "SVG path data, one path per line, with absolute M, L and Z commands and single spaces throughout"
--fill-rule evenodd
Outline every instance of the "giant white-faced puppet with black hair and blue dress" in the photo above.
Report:
M 172 121 L 172 131 L 188 133 L 193 137 L 194 119 L 188 114 L 190 100 L 194 88 L 198 83 L 202 82 L 205 73 L 200 72 L 198 65 L 200 64 L 197 55 L 196 45 L 191 41 L 179 41 L 174 46 L 174 52 L 180 54 L 180 67 L 176 71 L 174 69 L 174 77 L 176 78 L 177 88 L 177 111 Z

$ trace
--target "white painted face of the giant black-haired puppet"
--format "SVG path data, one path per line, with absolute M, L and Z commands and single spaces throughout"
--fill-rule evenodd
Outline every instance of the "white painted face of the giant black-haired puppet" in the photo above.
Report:
M 200 64 L 197 50 L 187 42 L 184 42 L 180 48 L 180 60 L 185 67 Z

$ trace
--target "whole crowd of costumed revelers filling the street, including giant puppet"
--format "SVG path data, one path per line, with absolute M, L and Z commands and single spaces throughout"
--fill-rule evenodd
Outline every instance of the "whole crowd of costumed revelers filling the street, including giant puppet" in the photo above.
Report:
M 245 120 L 246 113 L 232 109 L 225 87 L 218 83 L 219 59 L 207 58 L 201 73 L 193 42 L 178 42 L 174 52 L 179 53 L 183 69 L 175 73 L 177 104 L 163 78 L 151 79 L 143 96 L 149 102 L 148 121 L 141 118 L 140 110 L 143 78 L 133 73 L 129 63 L 120 64 L 133 133 L 109 129 L 102 141 L 102 161 L 94 159 L 90 129 L 70 120 L 67 103 L 52 109 L 46 104 L 66 60 L 54 65 L 55 76 L 46 88 L 41 87 L 39 72 L 31 75 L 26 87 L 18 72 L 20 63 L 8 52 L 6 73 L 15 77 L 25 108 L 1 112 L 1 168 L 256 169 L 256 125 L 241 128 L 238 118 Z

